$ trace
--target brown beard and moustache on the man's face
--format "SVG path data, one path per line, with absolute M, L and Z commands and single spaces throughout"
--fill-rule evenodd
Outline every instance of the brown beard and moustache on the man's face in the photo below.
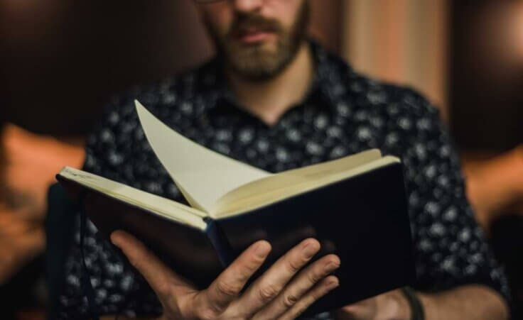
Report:
M 235 13 L 227 35 L 218 35 L 205 19 L 205 25 L 214 40 L 217 55 L 232 72 L 249 81 L 264 81 L 279 75 L 296 57 L 306 38 L 309 6 L 303 1 L 293 26 L 286 30 L 279 21 L 257 14 Z M 266 50 L 262 45 L 242 45 L 239 35 L 251 28 L 276 34 L 276 50 Z

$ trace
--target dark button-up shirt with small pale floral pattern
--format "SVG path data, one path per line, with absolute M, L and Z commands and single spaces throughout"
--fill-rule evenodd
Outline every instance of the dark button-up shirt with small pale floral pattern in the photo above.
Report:
M 465 197 L 458 155 L 438 111 L 411 89 L 353 71 L 311 43 L 316 77 L 300 104 L 268 126 L 227 90 L 220 63 L 132 89 L 114 98 L 87 141 L 85 170 L 161 197 L 185 202 L 153 154 L 134 110 L 139 99 L 188 138 L 269 172 L 340 158 L 369 148 L 405 165 L 414 236 L 416 289 L 481 284 L 507 297 L 504 273 L 492 258 Z M 85 316 L 79 233 L 66 265 L 60 316 Z M 154 315 L 161 306 L 141 275 L 122 263 L 88 225 L 85 263 L 104 314 Z

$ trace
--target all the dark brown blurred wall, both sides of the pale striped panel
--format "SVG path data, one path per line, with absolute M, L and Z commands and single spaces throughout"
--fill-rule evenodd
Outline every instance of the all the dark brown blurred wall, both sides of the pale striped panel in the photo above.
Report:
M 109 94 L 210 57 L 190 2 L 0 0 L 0 121 L 82 136 Z M 514 55 L 507 32 L 517 2 L 451 1 L 448 106 L 463 150 L 500 151 L 523 141 L 523 49 Z M 338 52 L 341 1 L 312 4 L 313 34 Z

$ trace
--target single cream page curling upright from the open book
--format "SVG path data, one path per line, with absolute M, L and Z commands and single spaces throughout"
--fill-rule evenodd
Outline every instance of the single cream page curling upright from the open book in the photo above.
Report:
M 135 104 L 149 144 L 191 206 L 211 212 L 227 192 L 271 176 L 194 143 L 158 120 L 139 101 Z

